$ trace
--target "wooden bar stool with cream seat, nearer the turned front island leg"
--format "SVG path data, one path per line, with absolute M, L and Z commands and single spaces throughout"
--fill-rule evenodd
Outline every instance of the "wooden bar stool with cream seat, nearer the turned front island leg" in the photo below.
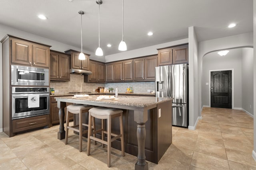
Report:
M 120 134 L 111 133 L 111 119 L 114 117 L 119 117 L 120 121 Z M 111 154 L 111 142 L 115 141 L 116 139 L 121 139 L 121 150 L 122 156 L 124 156 L 124 128 L 123 128 L 123 111 L 121 109 L 114 109 L 114 108 L 106 108 L 106 107 L 94 107 L 89 110 L 89 127 L 92 125 L 92 122 L 95 122 L 95 118 L 101 119 L 101 129 L 94 129 L 92 132 L 91 130 L 88 131 L 88 142 L 87 142 L 87 155 L 90 155 L 90 147 L 91 147 L 91 139 L 102 143 L 102 147 L 104 145 L 108 146 L 108 167 L 110 167 L 110 154 Z M 104 126 L 104 119 L 107 119 L 107 130 L 105 131 Z M 94 126 L 95 127 L 95 126 Z M 95 136 L 91 136 L 92 134 L 95 135 L 96 133 L 101 132 L 101 139 L 96 138 Z M 107 134 L 107 141 L 104 141 L 104 133 Z M 114 136 L 113 138 L 111 136 Z

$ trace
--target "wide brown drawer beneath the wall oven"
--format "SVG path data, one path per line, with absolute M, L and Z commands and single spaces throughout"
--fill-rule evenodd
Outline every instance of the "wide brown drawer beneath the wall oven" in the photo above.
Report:
M 49 125 L 49 114 L 12 121 L 12 132 L 20 132 Z

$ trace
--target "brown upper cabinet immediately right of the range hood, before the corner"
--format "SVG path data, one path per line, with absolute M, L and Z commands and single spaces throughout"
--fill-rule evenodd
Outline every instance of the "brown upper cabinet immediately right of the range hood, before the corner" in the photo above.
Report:
M 90 71 L 92 72 L 92 74 L 84 76 L 85 82 L 105 82 L 106 75 L 104 63 L 90 61 Z

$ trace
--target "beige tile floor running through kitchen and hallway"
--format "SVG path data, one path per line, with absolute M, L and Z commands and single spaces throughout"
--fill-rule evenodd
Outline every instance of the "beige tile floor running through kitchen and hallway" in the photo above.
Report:
M 57 139 L 58 125 L 9 138 L 0 133 L 0 170 L 105 170 L 134 169 L 136 156 L 122 157 L 112 149 L 107 167 L 106 147 L 92 145 L 91 156 L 78 151 L 78 136 L 69 134 L 69 144 Z M 252 158 L 253 119 L 240 110 L 203 108 L 195 131 L 173 127 L 172 145 L 150 170 L 256 170 Z

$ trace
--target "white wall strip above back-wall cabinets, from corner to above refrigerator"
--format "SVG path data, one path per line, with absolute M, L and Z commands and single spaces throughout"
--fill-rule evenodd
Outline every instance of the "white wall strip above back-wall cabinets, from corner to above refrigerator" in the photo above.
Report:
M 157 49 L 170 47 L 174 45 L 180 45 L 188 43 L 188 38 L 186 39 L 180 39 L 177 41 L 172 41 L 168 43 L 158 44 L 158 45 L 152 45 L 149 47 L 144 47 L 140 49 L 130 50 L 130 51 L 124 51 L 122 53 L 117 53 L 113 55 L 106 55 L 106 63 L 112 62 L 112 61 L 118 61 L 118 60 L 125 60 L 125 59 L 132 59 L 136 57 L 142 57 L 147 55 L 157 55 L 158 51 Z

